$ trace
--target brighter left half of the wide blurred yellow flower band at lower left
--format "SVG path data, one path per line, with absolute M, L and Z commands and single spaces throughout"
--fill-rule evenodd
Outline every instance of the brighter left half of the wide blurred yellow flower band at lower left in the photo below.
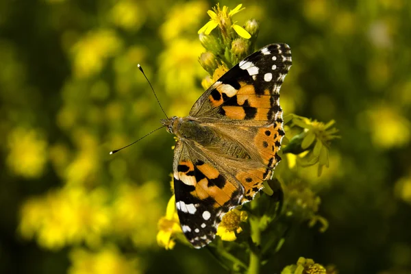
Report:
M 25 201 L 18 231 L 25 238 L 35 237 L 38 245 L 47 249 L 80 242 L 97 247 L 111 226 L 106 199 L 103 188 L 91 192 L 82 188 L 52 190 Z

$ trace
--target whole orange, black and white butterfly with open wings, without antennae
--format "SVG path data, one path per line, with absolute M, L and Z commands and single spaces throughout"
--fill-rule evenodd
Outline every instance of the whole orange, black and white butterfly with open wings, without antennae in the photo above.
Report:
M 208 245 L 223 215 L 271 179 L 285 134 L 279 89 L 291 64 L 288 45 L 267 45 L 212 84 L 189 116 L 161 121 L 177 136 L 175 201 L 193 247 Z

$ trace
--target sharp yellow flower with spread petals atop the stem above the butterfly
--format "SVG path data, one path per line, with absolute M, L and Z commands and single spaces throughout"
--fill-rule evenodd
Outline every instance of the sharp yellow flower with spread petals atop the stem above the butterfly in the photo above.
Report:
M 241 7 L 242 4 L 237 5 L 236 8 L 234 8 L 234 10 L 230 10 L 229 12 L 227 12 L 227 6 L 224 5 L 223 9 L 221 10 L 219 4 L 217 4 L 216 7 L 213 8 L 214 11 L 208 10 L 207 13 L 211 19 L 210 21 L 208 21 L 208 23 L 206 23 L 206 25 L 199 29 L 198 34 L 204 33 L 208 35 L 212 32 L 213 29 L 219 26 L 223 34 L 226 34 L 226 30 L 232 27 L 234 31 L 242 38 L 251 38 L 251 35 L 247 32 L 247 30 L 245 30 L 243 27 L 240 27 L 235 23 L 232 23 L 231 17 L 234 14 L 240 12 L 241 10 L 244 10 L 244 8 Z

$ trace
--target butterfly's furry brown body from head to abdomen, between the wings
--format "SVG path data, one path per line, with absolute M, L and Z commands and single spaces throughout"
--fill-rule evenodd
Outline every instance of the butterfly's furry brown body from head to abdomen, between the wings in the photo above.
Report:
M 203 125 L 191 116 L 177 117 L 161 121 L 167 132 L 175 134 L 182 142 L 195 142 L 204 149 L 225 154 L 229 158 L 250 159 L 247 150 L 233 138 L 219 132 L 215 127 Z

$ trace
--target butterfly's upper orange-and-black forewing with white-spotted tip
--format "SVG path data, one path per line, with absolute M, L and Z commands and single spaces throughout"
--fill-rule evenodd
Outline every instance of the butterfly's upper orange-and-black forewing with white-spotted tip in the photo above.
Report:
M 275 121 L 279 89 L 292 64 L 290 47 L 272 44 L 249 55 L 201 95 L 190 116 Z

